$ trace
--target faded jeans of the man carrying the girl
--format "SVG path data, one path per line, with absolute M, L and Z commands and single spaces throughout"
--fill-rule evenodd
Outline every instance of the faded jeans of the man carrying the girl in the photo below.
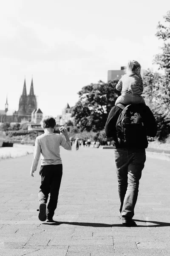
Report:
M 145 149 L 114 149 L 118 179 L 120 212 L 122 216 L 133 217 L 138 197 L 139 180 L 146 160 Z

